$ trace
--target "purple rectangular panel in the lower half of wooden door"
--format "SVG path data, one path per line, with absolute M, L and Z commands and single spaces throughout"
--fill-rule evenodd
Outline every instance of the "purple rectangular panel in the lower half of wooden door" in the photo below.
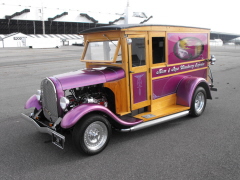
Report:
M 133 102 L 134 104 L 147 100 L 147 74 L 146 72 L 132 74 Z

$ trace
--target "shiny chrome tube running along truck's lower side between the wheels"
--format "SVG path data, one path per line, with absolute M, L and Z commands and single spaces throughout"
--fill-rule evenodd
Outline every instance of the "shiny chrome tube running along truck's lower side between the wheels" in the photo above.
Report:
M 172 114 L 172 115 L 169 115 L 169 116 L 165 116 L 165 117 L 162 117 L 162 118 L 159 118 L 159 119 L 143 122 L 143 123 L 140 123 L 138 125 L 132 126 L 128 129 L 120 129 L 120 132 L 138 131 L 140 129 L 144 129 L 144 128 L 154 126 L 154 125 L 157 125 L 157 124 L 160 124 L 160 123 L 163 123 L 163 122 L 167 122 L 167 121 L 171 121 L 171 120 L 174 120 L 174 119 L 177 119 L 177 118 L 187 116 L 188 114 L 189 114 L 189 111 L 183 111 L 183 112 Z

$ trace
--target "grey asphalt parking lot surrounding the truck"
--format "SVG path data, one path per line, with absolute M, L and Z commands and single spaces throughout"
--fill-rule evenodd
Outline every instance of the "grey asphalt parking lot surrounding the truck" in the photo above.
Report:
M 133 133 L 114 132 L 95 156 L 51 144 L 20 113 L 44 77 L 74 71 L 83 47 L 0 49 L 0 179 L 239 179 L 240 48 L 212 47 L 214 83 L 205 112 Z

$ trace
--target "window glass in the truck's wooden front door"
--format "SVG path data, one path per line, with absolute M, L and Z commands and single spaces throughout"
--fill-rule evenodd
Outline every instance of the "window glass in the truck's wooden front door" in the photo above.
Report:
M 146 65 L 145 38 L 132 38 L 132 67 Z

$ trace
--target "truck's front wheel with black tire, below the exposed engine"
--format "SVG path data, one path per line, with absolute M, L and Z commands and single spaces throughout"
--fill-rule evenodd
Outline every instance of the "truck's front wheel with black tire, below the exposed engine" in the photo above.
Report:
M 98 154 L 107 146 L 111 132 L 111 126 L 105 117 L 88 115 L 74 127 L 73 142 L 88 155 Z

